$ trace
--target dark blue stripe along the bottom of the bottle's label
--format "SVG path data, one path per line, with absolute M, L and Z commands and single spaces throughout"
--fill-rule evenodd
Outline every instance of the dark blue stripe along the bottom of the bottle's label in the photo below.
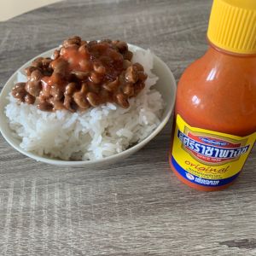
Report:
M 194 174 L 191 174 L 183 169 L 182 166 L 179 166 L 177 161 L 172 156 L 172 165 L 175 167 L 176 171 L 185 179 L 187 179 L 191 183 L 195 183 L 201 186 L 206 187 L 218 187 L 218 186 L 224 186 L 228 183 L 231 183 L 236 177 L 239 175 L 240 172 L 236 173 L 236 175 L 224 179 L 207 179 L 195 176 Z

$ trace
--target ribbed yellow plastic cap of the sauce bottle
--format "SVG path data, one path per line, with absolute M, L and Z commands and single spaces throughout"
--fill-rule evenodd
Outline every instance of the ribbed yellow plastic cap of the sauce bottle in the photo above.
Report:
M 221 49 L 256 54 L 256 0 L 213 0 L 207 37 Z

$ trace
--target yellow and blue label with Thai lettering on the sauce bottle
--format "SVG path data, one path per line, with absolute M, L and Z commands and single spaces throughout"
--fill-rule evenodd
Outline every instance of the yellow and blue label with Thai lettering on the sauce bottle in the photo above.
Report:
M 185 179 L 207 187 L 223 186 L 241 172 L 256 132 L 237 137 L 189 126 L 177 114 L 170 161 Z

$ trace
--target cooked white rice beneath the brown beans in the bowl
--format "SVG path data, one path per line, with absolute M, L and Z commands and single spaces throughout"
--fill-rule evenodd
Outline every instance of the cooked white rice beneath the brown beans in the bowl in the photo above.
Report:
M 151 72 L 153 55 L 149 49 L 146 53 L 136 51 L 132 62 L 143 65 L 148 79 L 145 89 L 129 100 L 128 109 L 108 103 L 83 113 L 50 113 L 34 105 L 17 104 L 9 96 L 5 113 L 21 140 L 20 147 L 61 160 L 99 160 L 143 141 L 160 124 L 164 102 L 160 92 L 151 88 L 158 78 Z

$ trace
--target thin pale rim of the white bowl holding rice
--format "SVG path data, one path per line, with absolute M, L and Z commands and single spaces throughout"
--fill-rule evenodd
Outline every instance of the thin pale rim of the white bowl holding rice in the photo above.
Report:
M 133 48 L 133 49 L 139 49 L 139 50 L 143 50 L 143 51 L 146 51 L 146 49 L 143 49 L 135 44 L 128 44 L 129 47 Z M 26 61 L 25 64 L 23 64 L 21 67 L 19 67 L 15 73 L 13 73 L 10 78 L 7 80 L 7 82 L 3 85 L 3 89 L 0 93 L 0 101 L 1 99 L 3 98 L 3 95 L 4 94 L 8 94 L 9 93 L 9 90 L 8 90 L 8 84 L 11 82 L 12 79 L 15 78 L 16 74 L 18 72 L 20 72 L 20 70 L 24 70 L 25 67 L 27 67 L 27 65 L 29 63 L 31 63 L 35 58 L 38 58 L 42 55 L 46 55 L 46 54 L 49 54 L 49 53 L 53 53 L 55 49 L 59 49 L 59 47 L 55 47 L 53 49 L 48 49 L 46 51 L 44 51 L 43 53 L 39 54 L 39 55 L 36 55 L 35 57 L 33 57 L 31 60 L 29 61 Z M 154 52 L 152 52 L 152 55 L 154 55 Z M 154 55 L 154 59 L 156 59 L 158 62 L 160 62 L 160 64 L 166 68 L 166 70 L 168 71 L 169 75 L 170 75 L 170 79 L 172 79 L 171 83 L 173 83 L 173 94 L 174 94 L 174 98 L 176 96 L 176 92 L 177 92 L 177 83 L 176 83 L 176 80 L 174 78 L 174 75 L 171 71 L 171 69 L 166 65 L 166 63 L 164 61 L 162 61 L 160 59 L 160 57 L 158 57 L 157 55 Z M 7 91 L 6 91 L 7 90 Z M 125 149 L 124 151 L 118 153 L 118 154 L 113 154 L 113 155 L 110 155 L 110 156 L 107 156 L 107 157 L 104 157 L 100 160 L 57 160 L 57 159 L 50 159 L 50 158 L 47 158 L 47 157 L 44 157 L 44 156 L 40 156 L 38 154 L 34 154 L 32 152 L 28 152 L 26 151 L 25 149 L 23 148 L 20 148 L 20 145 L 19 144 L 16 144 L 14 143 L 8 134 L 6 134 L 4 131 L 3 131 L 3 126 L 1 125 L 2 122 L 0 122 L 0 132 L 2 134 L 2 136 L 4 137 L 4 139 L 6 140 L 7 143 L 9 143 L 10 146 L 12 146 L 13 148 L 15 148 L 17 151 L 19 151 L 21 154 L 24 154 L 26 155 L 27 157 L 30 157 L 32 158 L 33 160 L 37 160 L 37 161 L 41 161 L 41 162 L 44 162 L 46 164 L 50 164 L 50 165 L 55 165 L 55 166 L 86 166 L 86 165 L 96 165 L 96 164 L 100 164 L 100 163 L 104 163 L 104 162 L 107 162 L 107 161 L 111 161 L 111 160 L 118 160 L 119 158 L 122 158 L 122 156 L 125 157 L 125 155 L 129 155 L 131 154 L 133 151 L 137 151 L 138 149 L 140 148 L 143 148 L 144 145 L 146 145 L 147 143 L 149 143 L 154 137 L 156 137 L 160 131 L 166 126 L 166 123 L 168 122 L 168 120 L 170 119 L 171 115 L 172 115 L 172 111 L 173 111 L 173 108 L 174 108 L 174 104 L 175 104 L 175 101 L 172 101 L 170 106 L 167 108 L 167 112 L 166 112 L 166 116 L 164 119 L 162 119 L 160 121 L 160 124 L 154 129 L 154 131 L 148 135 L 148 137 L 145 137 L 143 139 L 143 141 L 141 141 L 140 143 L 137 143 L 135 145 L 133 145 L 131 148 L 127 148 Z M 4 113 L 4 108 L 6 107 L 3 106 L 3 109 L 0 111 Z M 4 113 L 5 114 L 5 113 Z M 0 119 L 1 119 L 1 114 L 0 114 Z M 10 130 L 10 128 L 9 128 Z M 11 131 L 11 130 L 10 130 Z

